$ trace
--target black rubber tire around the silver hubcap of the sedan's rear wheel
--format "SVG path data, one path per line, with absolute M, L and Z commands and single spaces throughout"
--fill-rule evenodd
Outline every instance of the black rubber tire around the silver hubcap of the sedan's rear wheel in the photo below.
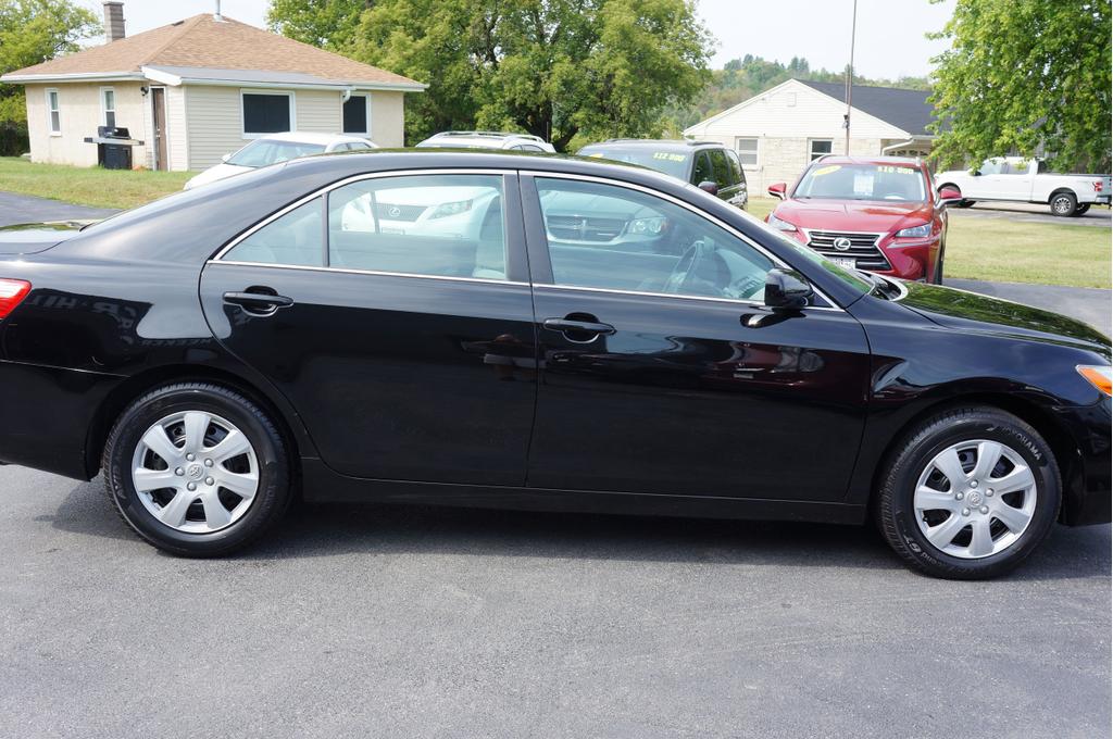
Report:
M 257 467 L 257 489 L 245 512 L 225 528 L 205 533 L 186 533 L 159 521 L 140 500 L 132 480 L 144 434 L 161 420 L 189 411 L 234 424 L 250 443 Z M 124 521 L 150 544 L 180 556 L 223 556 L 252 544 L 282 519 L 292 497 L 290 461 L 275 424 L 243 395 L 207 383 L 167 385 L 131 403 L 112 426 L 102 466 L 108 495 Z

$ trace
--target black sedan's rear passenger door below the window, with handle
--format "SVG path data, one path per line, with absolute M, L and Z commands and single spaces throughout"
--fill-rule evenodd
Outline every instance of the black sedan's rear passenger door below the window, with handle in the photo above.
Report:
M 511 195 L 508 247 L 519 254 L 509 270 L 524 278 L 516 186 Z M 424 235 L 414 244 L 431 240 Z M 397 259 L 393 250 L 367 254 Z M 268 309 L 226 298 L 242 293 L 288 304 Z M 218 341 L 290 401 L 333 470 L 523 484 L 536 387 L 524 279 L 215 260 L 201 274 L 200 296 Z

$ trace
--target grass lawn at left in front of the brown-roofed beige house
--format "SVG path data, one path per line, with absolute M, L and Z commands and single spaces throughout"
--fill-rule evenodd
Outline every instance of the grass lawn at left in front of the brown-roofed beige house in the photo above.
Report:
M 0 190 L 96 208 L 134 208 L 181 189 L 195 173 L 37 165 L 0 157 Z

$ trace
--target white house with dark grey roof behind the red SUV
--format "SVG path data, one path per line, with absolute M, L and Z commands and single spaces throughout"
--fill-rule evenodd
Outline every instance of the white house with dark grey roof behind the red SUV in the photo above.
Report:
M 684 129 L 684 136 L 732 147 L 751 190 L 791 183 L 825 154 L 846 154 L 846 86 L 790 79 Z M 855 85 L 850 154 L 924 156 L 934 136 L 929 92 Z

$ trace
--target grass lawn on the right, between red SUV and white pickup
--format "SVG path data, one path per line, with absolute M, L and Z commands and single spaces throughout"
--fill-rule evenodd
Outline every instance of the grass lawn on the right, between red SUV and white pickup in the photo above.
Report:
M 777 203 L 752 198 L 747 209 L 765 218 Z M 952 214 L 944 278 L 1109 288 L 1111 254 L 1109 228 Z

